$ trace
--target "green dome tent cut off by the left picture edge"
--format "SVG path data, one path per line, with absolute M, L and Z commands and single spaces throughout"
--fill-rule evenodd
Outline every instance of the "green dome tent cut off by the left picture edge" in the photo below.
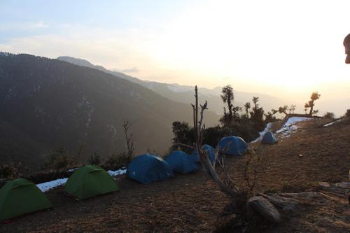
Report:
M 0 222 L 51 207 L 43 192 L 24 178 L 10 181 L 0 189 Z

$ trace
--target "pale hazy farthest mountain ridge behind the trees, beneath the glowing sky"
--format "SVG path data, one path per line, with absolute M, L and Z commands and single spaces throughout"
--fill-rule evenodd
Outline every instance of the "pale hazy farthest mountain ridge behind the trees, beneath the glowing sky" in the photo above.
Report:
M 163 97 L 166 97 L 168 99 L 172 99 L 174 101 L 178 101 L 181 103 L 188 103 L 188 99 L 191 99 L 193 97 L 193 89 L 194 89 L 193 86 L 179 85 L 177 83 L 159 83 L 155 81 L 140 80 L 139 78 L 128 76 L 125 73 L 120 73 L 118 71 L 109 71 L 108 69 L 105 69 L 103 66 L 96 66 L 85 59 L 78 59 L 74 57 L 57 57 L 57 59 L 63 60 L 65 62 L 71 62 L 73 64 L 77 64 L 80 66 L 87 66 L 93 69 L 99 69 L 100 71 L 104 71 L 106 73 L 111 73 L 114 76 L 125 78 L 127 80 L 130 80 L 133 83 L 138 83 L 140 85 L 143 85 L 144 87 L 147 87 L 148 89 L 151 89 L 154 92 L 157 92 Z M 235 85 L 232 85 L 232 87 L 235 87 Z M 209 109 L 211 111 L 214 111 L 222 115 L 224 105 L 220 97 L 221 90 L 222 90 L 222 87 L 215 87 L 213 89 L 199 87 L 200 99 L 202 101 L 207 100 Z M 304 103 L 302 102 L 290 101 L 288 99 L 281 99 L 278 97 L 273 97 L 271 95 L 262 94 L 258 92 L 242 92 L 242 91 L 234 90 L 234 94 L 235 94 L 235 101 L 234 101 L 235 106 L 243 107 L 247 101 L 251 102 L 251 99 L 253 99 L 253 97 L 259 97 L 260 106 L 264 108 L 265 113 L 268 111 L 271 111 L 272 108 L 278 109 L 279 106 L 290 105 L 290 104 L 297 105 L 297 109 L 296 109 L 297 113 L 304 113 Z M 306 101 L 307 99 L 305 99 L 305 102 Z M 346 108 L 350 108 L 350 105 L 344 106 L 344 103 L 348 103 L 348 102 L 349 102 L 349 99 L 342 99 L 342 100 L 323 99 L 321 95 L 321 99 L 316 101 L 315 107 L 316 109 L 320 110 L 319 112 L 320 115 L 325 113 L 325 111 L 330 111 L 340 116 L 345 113 Z

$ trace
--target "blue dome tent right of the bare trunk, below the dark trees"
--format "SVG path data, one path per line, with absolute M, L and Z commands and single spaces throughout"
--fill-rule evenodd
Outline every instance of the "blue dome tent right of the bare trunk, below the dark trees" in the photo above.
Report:
M 225 155 L 243 155 L 246 153 L 248 146 L 239 136 L 225 136 L 218 143 L 219 153 Z

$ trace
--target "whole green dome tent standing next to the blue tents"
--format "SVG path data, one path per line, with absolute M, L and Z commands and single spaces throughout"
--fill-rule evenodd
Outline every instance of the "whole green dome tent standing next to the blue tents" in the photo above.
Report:
M 86 165 L 69 177 L 65 190 L 76 199 L 86 199 L 119 190 L 113 178 L 101 167 Z

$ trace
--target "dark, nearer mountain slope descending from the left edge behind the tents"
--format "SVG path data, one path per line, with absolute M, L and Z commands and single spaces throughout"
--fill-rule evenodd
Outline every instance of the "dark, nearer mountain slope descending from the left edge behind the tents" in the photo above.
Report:
M 94 152 L 105 157 L 125 149 L 123 120 L 133 123 L 137 153 L 164 153 L 172 122 L 192 123 L 191 101 L 172 101 L 124 78 L 58 59 L 1 53 L 0 127 L 20 138 L 1 131 L 0 160 L 5 154 L 30 160 L 56 147 L 77 150 L 80 144 L 85 159 Z M 205 120 L 216 125 L 218 115 L 208 111 Z M 26 149 L 24 139 L 33 145 Z M 14 146 L 8 151 L 1 145 Z

